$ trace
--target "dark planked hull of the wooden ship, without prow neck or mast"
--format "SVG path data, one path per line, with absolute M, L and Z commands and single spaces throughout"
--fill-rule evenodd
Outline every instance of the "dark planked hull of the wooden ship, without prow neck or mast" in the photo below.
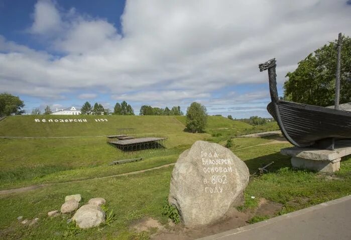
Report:
M 349 111 L 283 100 L 269 103 L 267 110 L 276 119 L 285 138 L 298 147 L 308 147 L 328 138 L 351 139 Z

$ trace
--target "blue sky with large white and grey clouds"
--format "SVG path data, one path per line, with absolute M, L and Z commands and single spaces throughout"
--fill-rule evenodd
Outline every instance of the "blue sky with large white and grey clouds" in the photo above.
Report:
M 27 112 L 126 100 L 270 117 L 267 72 L 351 36 L 351 0 L 0 0 L 0 92 Z

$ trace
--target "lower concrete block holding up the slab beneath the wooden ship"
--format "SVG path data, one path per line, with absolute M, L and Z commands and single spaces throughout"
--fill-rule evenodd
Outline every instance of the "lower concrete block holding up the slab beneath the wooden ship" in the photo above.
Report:
M 334 173 L 340 169 L 340 160 L 341 158 L 334 159 L 333 161 L 322 161 L 292 157 L 291 165 L 293 168 L 307 169 L 324 173 Z

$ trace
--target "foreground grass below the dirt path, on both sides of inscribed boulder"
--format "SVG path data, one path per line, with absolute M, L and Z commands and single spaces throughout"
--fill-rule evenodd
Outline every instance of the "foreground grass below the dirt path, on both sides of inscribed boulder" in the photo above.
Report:
M 337 173 L 340 180 L 328 180 L 324 175 L 308 171 L 292 170 L 287 157 L 282 157 L 279 150 L 287 144 L 257 146 L 235 153 L 245 160 L 250 172 L 263 163 L 272 160 L 270 173 L 250 181 L 246 196 L 248 201 L 257 201 L 260 197 L 280 202 L 283 209 L 280 214 L 320 203 L 322 201 L 345 196 L 351 191 L 351 158 L 344 158 L 341 170 Z M 126 177 L 111 177 L 104 180 L 91 179 L 76 183 L 65 183 L 33 190 L 0 196 L 3 210 L 0 212 L 0 238 L 47 239 L 74 235 L 74 239 L 137 239 L 147 234 L 136 234 L 129 230 L 129 225 L 144 216 L 151 216 L 162 223 L 167 219 L 161 214 L 163 199 L 167 197 L 172 167 Z M 46 213 L 58 209 L 64 196 L 80 193 L 83 203 L 91 197 L 104 197 L 110 209 L 116 213 L 116 219 L 110 226 L 88 230 L 75 230 L 65 223 L 65 218 L 48 218 Z M 136 197 L 138 196 L 138 197 Z M 255 196 L 252 200 L 250 196 Z M 133 199 L 133 200 L 132 200 Z M 254 203 L 250 203 L 255 206 Z M 249 205 L 249 204 L 247 204 Z M 257 206 L 257 202 L 256 202 Z M 16 217 L 40 220 L 35 226 L 23 226 Z M 69 218 L 70 216 L 66 216 Z

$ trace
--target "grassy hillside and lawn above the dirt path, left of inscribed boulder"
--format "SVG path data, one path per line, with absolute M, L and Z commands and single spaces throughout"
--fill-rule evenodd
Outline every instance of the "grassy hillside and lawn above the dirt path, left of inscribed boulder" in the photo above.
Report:
M 168 133 L 167 149 L 123 153 L 106 144 L 104 137 L 65 139 L 0 139 L 0 189 L 32 184 L 109 176 L 161 166 L 207 134 L 183 132 L 185 126 L 173 116 L 39 116 L 39 118 L 86 118 L 87 123 L 35 123 L 37 116 L 11 116 L 0 122 L 6 136 L 96 136 L 113 134 L 116 128 L 135 127 L 137 133 Z M 113 160 L 142 157 L 129 167 L 108 166 Z

